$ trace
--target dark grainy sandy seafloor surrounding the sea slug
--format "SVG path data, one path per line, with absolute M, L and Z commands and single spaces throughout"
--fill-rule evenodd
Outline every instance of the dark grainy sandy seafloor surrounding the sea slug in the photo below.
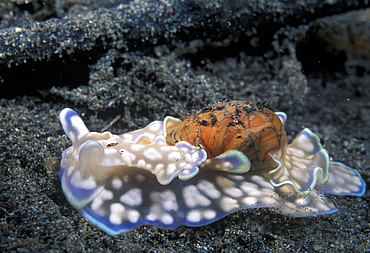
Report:
M 370 184 L 368 1 L 0 3 L 0 252 L 370 252 L 370 192 L 333 215 L 240 210 L 117 237 L 61 191 L 58 113 L 121 134 L 224 99 L 285 111 Z M 292 1 L 293 2 L 293 1 Z

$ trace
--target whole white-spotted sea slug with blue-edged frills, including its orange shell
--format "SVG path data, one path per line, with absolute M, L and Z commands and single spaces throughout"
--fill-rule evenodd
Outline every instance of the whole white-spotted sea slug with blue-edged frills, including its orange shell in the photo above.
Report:
M 110 235 L 142 224 L 202 226 L 246 208 L 271 207 L 294 217 L 331 214 L 337 209 L 324 193 L 363 195 L 361 176 L 330 162 L 309 129 L 286 145 L 285 120 L 284 113 L 230 101 L 184 122 L 166 117 L 113 135 L 90 132 L 66 108 L 60 121 L 73 145 L 63 152 L 62 189 Z M 216 130 L 206 128 L 212 123 Z

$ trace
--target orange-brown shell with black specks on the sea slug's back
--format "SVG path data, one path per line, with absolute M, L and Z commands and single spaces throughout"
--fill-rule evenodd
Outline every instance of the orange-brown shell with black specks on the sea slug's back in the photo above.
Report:
M 263 104 L 229 101 L 205 108 L 187 117 L 177 127 L 168 129 L 167 142 L 187 141 L 214 158 L 236 149 L 251 161 L 252 170 L 270 167 L 268 153 L 286 148 L 286 132 L 280 118 Z

